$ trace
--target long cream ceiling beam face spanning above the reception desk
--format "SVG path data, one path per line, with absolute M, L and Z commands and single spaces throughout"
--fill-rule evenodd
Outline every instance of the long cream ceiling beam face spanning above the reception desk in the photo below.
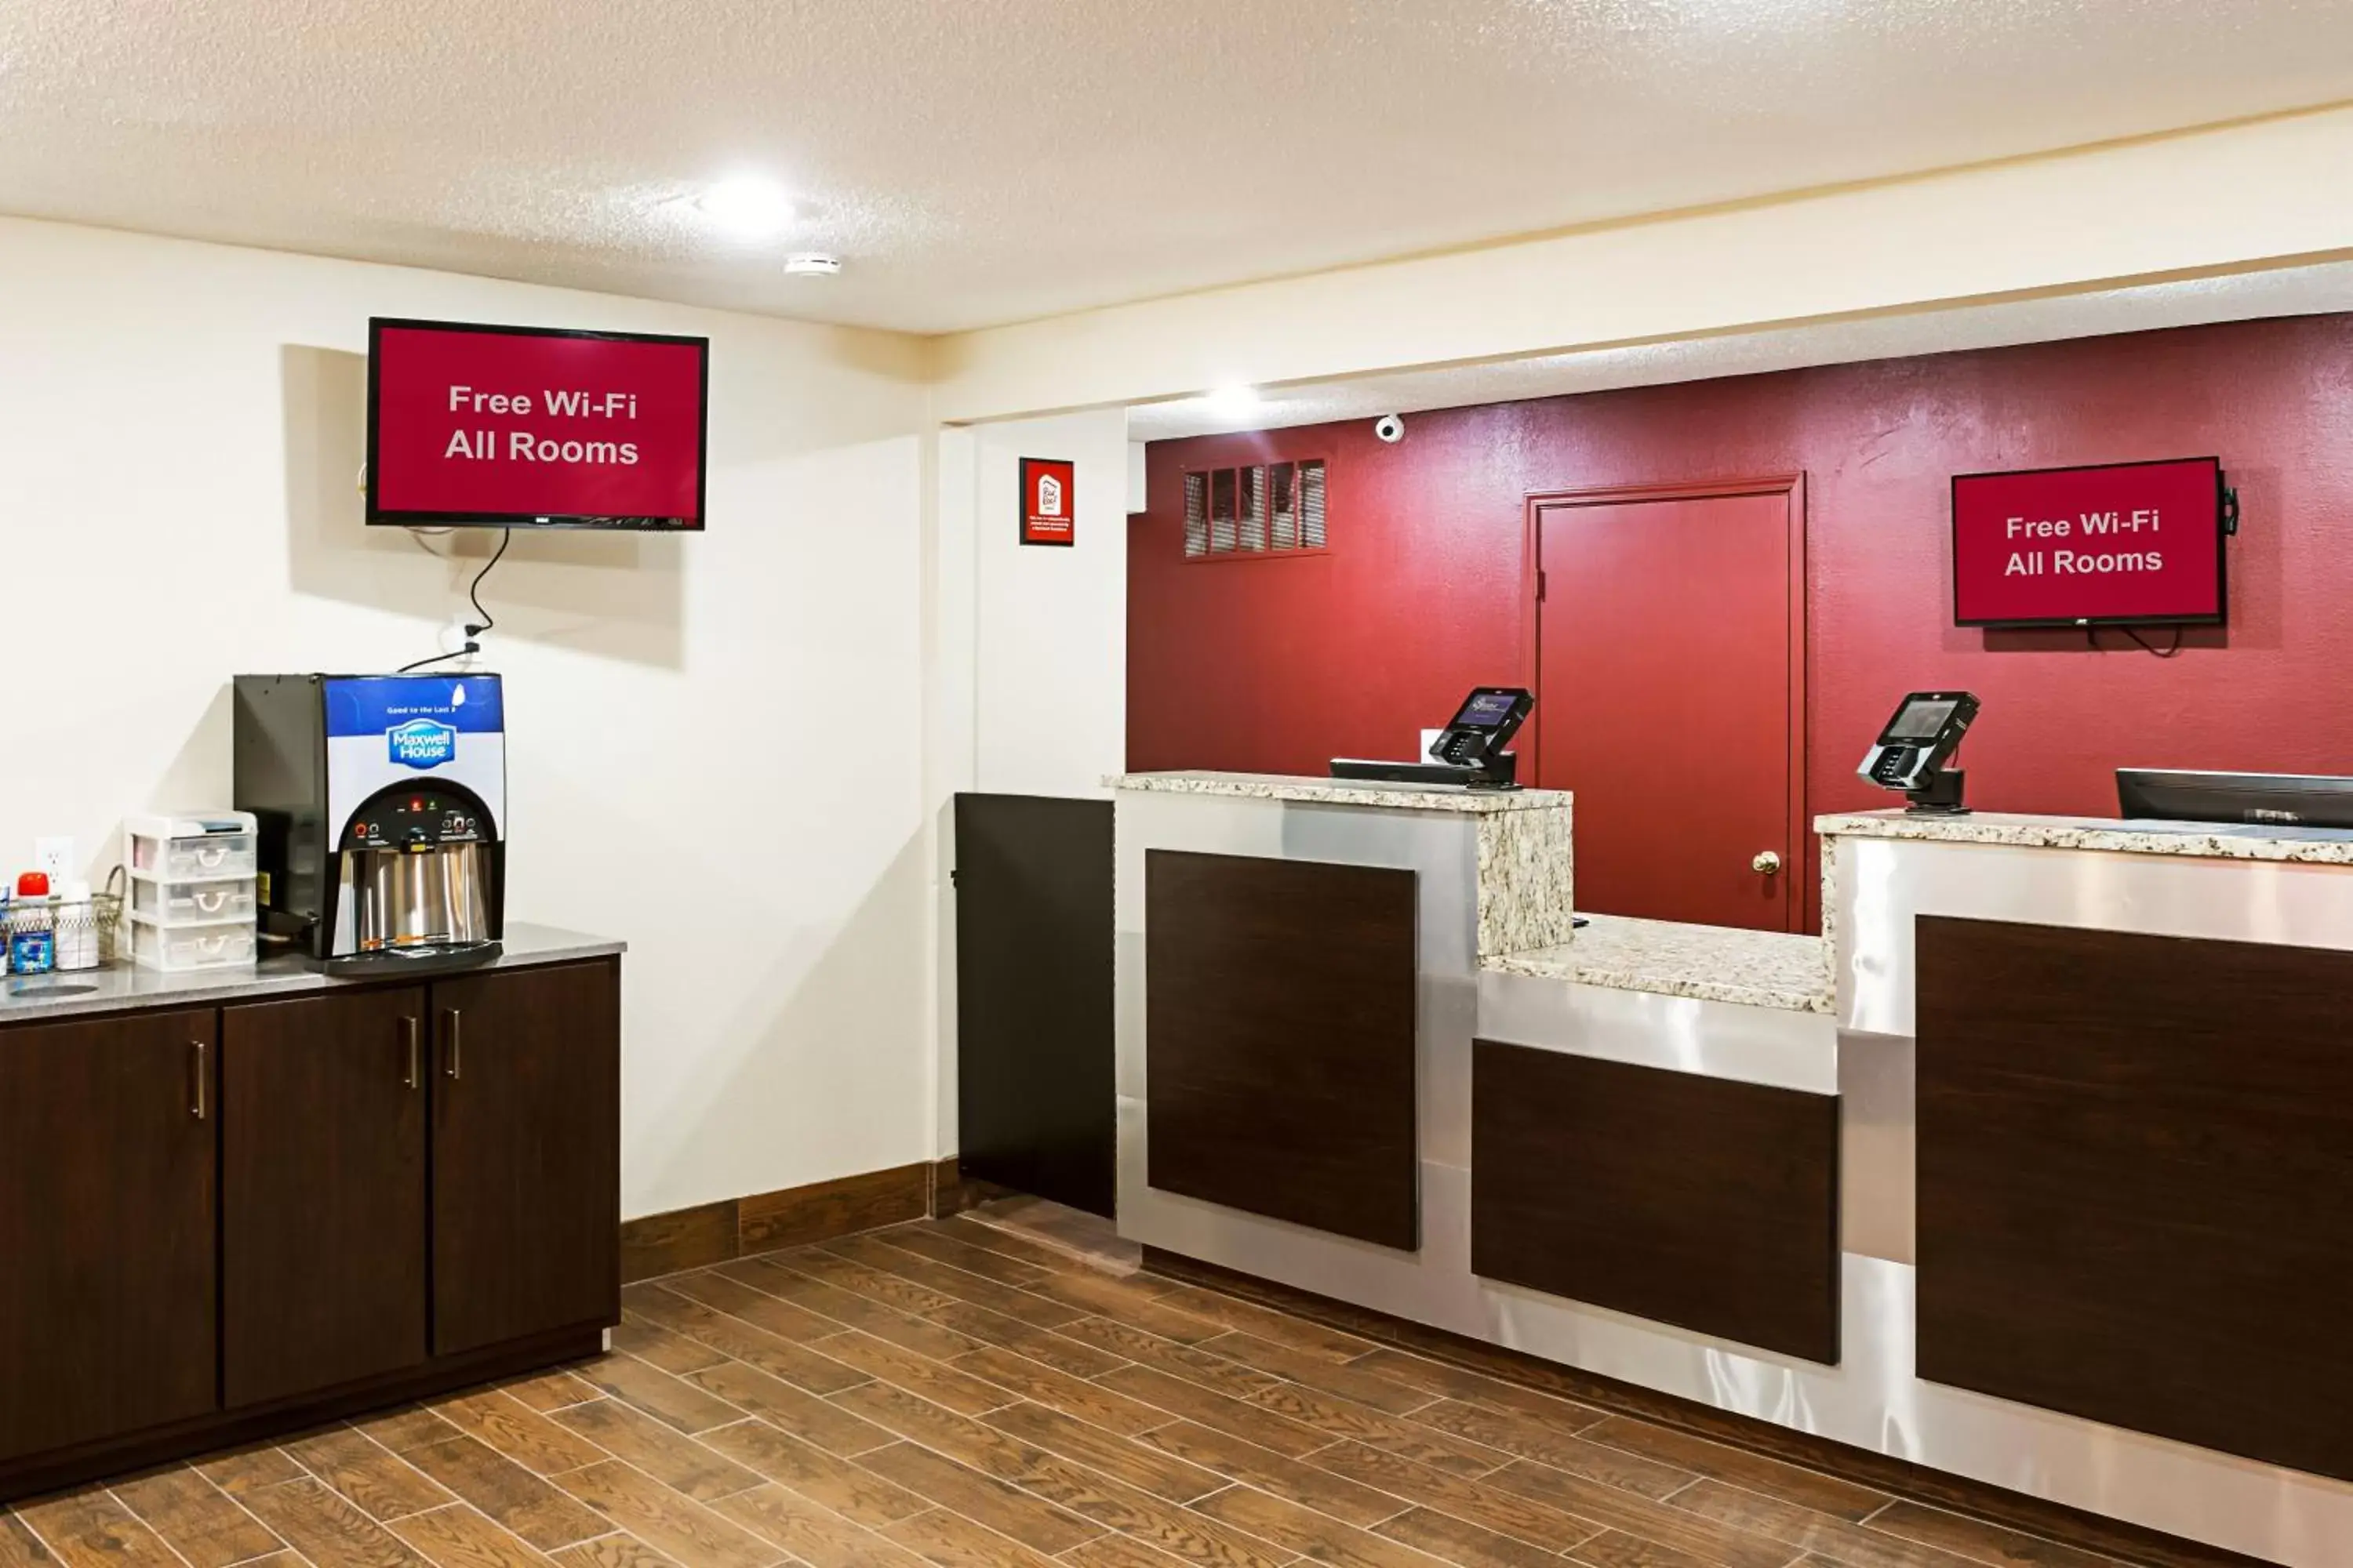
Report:
M 1988 106 L 1988 113 L 1995 113 Z M 1007 418 L 1398 367 L 2082 292 L 2353 252 L 2353 108 L 1595 223 L 941 339 Z

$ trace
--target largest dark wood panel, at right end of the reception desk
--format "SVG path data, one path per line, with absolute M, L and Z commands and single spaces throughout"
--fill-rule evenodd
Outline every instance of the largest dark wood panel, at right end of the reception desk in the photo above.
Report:
M 2353 1479 L 2353 952 L 1920 917 L 1920 1375 Z

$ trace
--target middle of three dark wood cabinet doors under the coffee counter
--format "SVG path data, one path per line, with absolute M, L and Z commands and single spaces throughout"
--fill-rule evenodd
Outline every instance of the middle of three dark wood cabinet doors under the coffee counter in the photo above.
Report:
M 221 1016 L 231 1408 L 426 1359 L 426 992 Z

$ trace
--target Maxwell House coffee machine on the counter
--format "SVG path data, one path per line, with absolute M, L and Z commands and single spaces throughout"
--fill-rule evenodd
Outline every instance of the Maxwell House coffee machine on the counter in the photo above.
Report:
M 506 701 L 496 675 L 240 675 L 235 804 L 264 931 L 329 976 L 499 954 Z

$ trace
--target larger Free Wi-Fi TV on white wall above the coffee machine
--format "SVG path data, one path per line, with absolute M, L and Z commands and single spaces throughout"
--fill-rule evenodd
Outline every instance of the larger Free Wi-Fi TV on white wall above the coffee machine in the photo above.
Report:
M 711 339 L 367 322 L 367 522 L 704 527 Z

